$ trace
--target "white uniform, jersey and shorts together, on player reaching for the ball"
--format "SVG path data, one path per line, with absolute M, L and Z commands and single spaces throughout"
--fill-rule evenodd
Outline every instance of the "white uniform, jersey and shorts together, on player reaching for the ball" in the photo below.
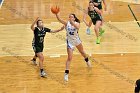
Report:
M 68 21 L 66 25 L 66 34 L 67 34 L 67 47 L 73 49 L 75 46 L 78 46 L 81 43 L 81 40 L 78 35 L 78 29 L 70 24 Z

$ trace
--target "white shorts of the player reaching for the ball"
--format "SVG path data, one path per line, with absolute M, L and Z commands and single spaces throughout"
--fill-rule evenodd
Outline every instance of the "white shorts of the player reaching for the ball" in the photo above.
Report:
M 67 48 L 74 49 L 75 46 L 78 46 L 81 43 L 82 42 L 81 42 L 80 38 L 77 38 L 75 40 L 67 39 Z

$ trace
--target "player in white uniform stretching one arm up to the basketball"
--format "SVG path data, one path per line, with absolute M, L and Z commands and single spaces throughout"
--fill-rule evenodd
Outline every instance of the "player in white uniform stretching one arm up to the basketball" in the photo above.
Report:
M 83 49 L 82 42 L 80 40 L 80 37 L 78 35 L 78 30 L 80 28 L 80 21 L 79 19 L 75 16 L 75 14 L 70 14 L 69 15 L 69 20 L 68 21 L 63 21 L 58 14 L 56 14 L 56 18 L 58 19 L 59 22 L 64 24 L 65 29 L 67 31 L 67 53 L 68 53 L 68 58 L 66 61 L 66 69 L 65 69 L 65 74 L 64 74 L 64 80 L 68 81 L 68 74 L 69 74 L 69 69 L 70 69 L 70 62 L 72 60 L 72 55 L 73 55 L 73 50 L 74 47 L 76 47 L 81 55 L 84 57 L 85 62 L 88 67 L 91 67 L 90 61 Z

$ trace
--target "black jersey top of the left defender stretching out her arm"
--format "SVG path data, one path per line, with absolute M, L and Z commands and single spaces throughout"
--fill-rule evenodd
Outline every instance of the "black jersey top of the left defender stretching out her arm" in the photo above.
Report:
M 38 27 L 35 27 L 33 45 L 42 46 L 46 32 L 50 32 L 50 31 L 51 30 L 49 28 L 43 27 L 43 29 L 40 30 Z

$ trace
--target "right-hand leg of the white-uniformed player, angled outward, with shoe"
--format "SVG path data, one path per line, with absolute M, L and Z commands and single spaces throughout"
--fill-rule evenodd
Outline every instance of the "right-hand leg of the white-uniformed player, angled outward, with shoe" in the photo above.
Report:
M 88 58 L 88 56 L 86 55 L 86 53 L 85 53 L 85 51 L 84 51 L 84 49 L 83 49 L 82 43 L 80 43 L 78 46 L 76 46 L 76 48 L 77 48 L 78 51 L 81 53 L 81 55 L 84 57 L 87 66 L 88 66 L 88 67 L 91 67 L 91 63 L 90 63 L 89 58 Z

